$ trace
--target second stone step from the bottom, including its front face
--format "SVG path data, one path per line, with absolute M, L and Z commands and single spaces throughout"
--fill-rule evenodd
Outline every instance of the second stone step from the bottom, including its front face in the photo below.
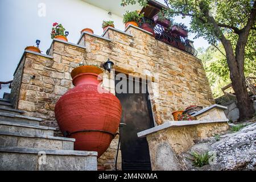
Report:
M 41 150 L 73 150 L 74 138 L 0 131 L 0 146 L 40 148 Z

